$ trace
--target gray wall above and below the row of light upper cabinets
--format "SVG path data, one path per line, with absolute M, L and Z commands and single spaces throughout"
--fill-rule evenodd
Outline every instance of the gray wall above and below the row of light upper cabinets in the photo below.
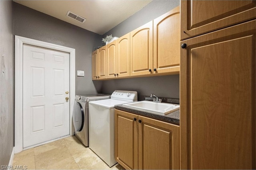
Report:
M 121 37 L 180 5 L 179 0 L 153 0 L 136 14 L 123 21 L 107 33 Z M 102 92 L 111 94 L 114 90 L 136 90 L 139 95 L 180 98 L 179 75 L 129 78 L 103 81 Z

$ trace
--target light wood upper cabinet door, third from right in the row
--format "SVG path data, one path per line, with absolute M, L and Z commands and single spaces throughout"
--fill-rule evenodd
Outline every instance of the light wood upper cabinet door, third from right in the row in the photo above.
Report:
M 130 76 L 130 33 L 117 39 L 117 76 Z

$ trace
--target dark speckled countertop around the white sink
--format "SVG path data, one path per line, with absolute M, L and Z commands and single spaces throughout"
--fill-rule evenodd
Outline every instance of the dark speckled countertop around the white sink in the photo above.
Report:
M 141 115 L 141 116 L 149 117 L 149 118 L 160 120 L 160 121 L 165 121 L 167 123 L 180 125 L 180 110 L 169 113 L 168 115 L 159 115 L 159 114 L 148 113 L 144 111 L 138 111 L 138 110 L 130 109 L 127 107 L 123 107 L 122 104 L 116 105 L 115 108 L 118 110 L 133 113 L 136 115 Z

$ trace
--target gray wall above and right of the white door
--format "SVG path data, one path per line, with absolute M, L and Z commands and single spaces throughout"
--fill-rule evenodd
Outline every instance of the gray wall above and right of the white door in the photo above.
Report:
M 14 6 L 14 35 L 45 41 L 76 49 L 76 94 L 100 93 L 102 82 L 92 82 L 92 51 L 102 45 L 102 36 L 70 23 L 58 20 L 16 2 Z

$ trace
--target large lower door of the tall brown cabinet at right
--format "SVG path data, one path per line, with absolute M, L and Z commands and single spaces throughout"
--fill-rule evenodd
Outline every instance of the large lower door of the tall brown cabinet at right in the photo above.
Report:
M 255 169 L 256 20 L 181 43 L 181 168 Z

